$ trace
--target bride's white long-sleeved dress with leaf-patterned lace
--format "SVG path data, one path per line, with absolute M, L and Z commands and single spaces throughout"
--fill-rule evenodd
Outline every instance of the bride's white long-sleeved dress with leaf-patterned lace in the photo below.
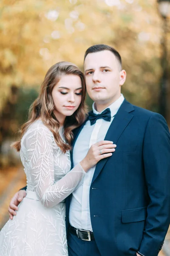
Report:
M 65 140 L 62 128 L 60 135 Z M 41 120 L 24 134 L 20 156 L 27 196 L 0 232 L 0 256 L 68 256 L 64 199 L 85 172 L 80 164 L 70 171 L 70 152 L 62 153 Z

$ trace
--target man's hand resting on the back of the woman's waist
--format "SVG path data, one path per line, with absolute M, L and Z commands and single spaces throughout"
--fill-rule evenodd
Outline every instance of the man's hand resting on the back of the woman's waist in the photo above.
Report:
M 13 219 L 13 216 L 17 214 L 15 212 L 18 210 L 17 206 L 20 204 L 20 202 L 23 200 L 23 198 L 25 198 L 25 196 L 26 196 L 26 191 L 20 190 L 17 193 L 15 193 L 15 195 L 11 199 L 11 202 L 8 207 L 8 214 L 9 214 L 9 218 L 11 220 Z

